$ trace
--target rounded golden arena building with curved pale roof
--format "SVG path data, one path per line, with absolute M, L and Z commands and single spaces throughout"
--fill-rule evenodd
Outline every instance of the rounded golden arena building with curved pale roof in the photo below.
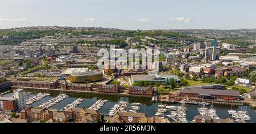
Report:
M 96 81 L 101 81 L 102 78 L 102 73 L 97 71 L 77 72 L 69 76 L 69 81 L 72 83 L 93 83 Z

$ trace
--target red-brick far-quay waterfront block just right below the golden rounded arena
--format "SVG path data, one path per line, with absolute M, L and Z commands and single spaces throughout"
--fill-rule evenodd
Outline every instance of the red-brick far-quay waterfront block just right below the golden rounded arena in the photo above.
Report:
M 118 93 L 121 90 L 120 85 L 97 85 L 97 92 L 101 93 Z

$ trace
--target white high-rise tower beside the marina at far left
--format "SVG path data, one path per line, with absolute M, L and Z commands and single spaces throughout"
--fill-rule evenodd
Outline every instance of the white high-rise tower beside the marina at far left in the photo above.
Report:
M 24 89 L 15 89 L 13 90 L 14 98 L 17 100 L 18 109 L 25 108 L 25 94 Z

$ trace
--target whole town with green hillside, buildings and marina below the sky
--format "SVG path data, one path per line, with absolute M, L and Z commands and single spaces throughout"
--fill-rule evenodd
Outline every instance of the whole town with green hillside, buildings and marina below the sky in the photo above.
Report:
M 152 60 L 99 68 L 112 45 Z M 255 49 L 256 29 L 0 29 L 0 122 L 255 123 Z

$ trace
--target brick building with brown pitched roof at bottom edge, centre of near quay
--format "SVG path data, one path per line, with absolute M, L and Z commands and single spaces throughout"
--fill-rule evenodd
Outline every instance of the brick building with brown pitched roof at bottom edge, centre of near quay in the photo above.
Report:
M 114 118 L 119 118 L 123 123 L 147 123 L 148 119 L 143 113 L 118 111 Z

